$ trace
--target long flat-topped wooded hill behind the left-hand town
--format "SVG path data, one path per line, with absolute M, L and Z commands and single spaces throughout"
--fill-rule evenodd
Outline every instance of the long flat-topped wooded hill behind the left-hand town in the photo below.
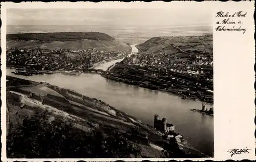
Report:
M 101 51 L 129 51 L 130 46 L 120 43 L 108 34 L 99 32 L 23 33 L 7 34 L 7 49 L 90 49 Z

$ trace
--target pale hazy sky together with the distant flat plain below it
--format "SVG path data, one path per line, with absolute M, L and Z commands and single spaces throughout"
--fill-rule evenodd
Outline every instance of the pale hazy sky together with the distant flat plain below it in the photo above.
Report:
M 148 39 L 212 31 L 208 9 L 190 8 L 195 3 L 172 4 L 168 8 L 8 9 L 7 34 L 93 31 L 121 39 Z

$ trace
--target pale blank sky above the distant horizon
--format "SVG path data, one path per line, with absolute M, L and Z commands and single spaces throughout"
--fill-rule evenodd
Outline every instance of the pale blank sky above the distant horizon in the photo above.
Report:
M 206 6 L 165 8 L 7 9 L 7 25 L 198 25 L 211 24 Z

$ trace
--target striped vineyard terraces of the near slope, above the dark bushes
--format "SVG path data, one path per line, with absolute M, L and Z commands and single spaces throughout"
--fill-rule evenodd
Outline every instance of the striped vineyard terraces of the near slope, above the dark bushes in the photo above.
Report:
M 96 127 L 92 126 L 95 125 L 93 123 L 97 123 L 97 127 L 102 127 L 104 129 L 120 129 L 124 132 L 129 132 L 130 129 L 137 127 L 142 134 L 145 131 L 148 132 L 148 140 L 150 143 L 156 143 L 156 145 L 159 145 L 159 142 L 157 141 L 161 139 L 162 134 L 160 132 L 156 131 L 152 126 L 115 109 L 101 100 L 90 98 L 73 90 L 60 88 L 51 84 L 40 84 L 38 82 L 9 76 L 7 76 L 7 80 L 8 91 L 11 91 L 12 94 L 16 94 L 16 96 L 22 96 L 22 99 L 18 102 L 14 102 L 13 98 L 9 98 L 8 104 L 11 104 L 11 107 L 20 107 L 21 105 L 25 105 L 23 106 L 23 110 L 29 109 L 30 111 L 34 111 L 35 109 L 33 107 L 54 110 L 55 114 L 61 115 L 63 119 L 72 118 L 73 122 L 75 122 L 78 127 L 82 124 L 83 126 L 81 129 L 84 129 L 85 131 L 95 129 Z M 12 82 L 12 80 L 15 81 Z M 13 86 L 11 89 L 8 88 L 12 83 L 16 84 L 17 81 L 20 83 L 18 88 Z M 26 86 L 31 83 L 34 86 Z M 46 96 L 44 95 L 45 93 L 47 93 Z M 56 97 L 56 93 L 60 96 Z M 12 111 L 11 113 L 14 112 Z M 158 140 L 156 141 L 156 139 Z M 189 152 L 193 150 L 193 155 L 195 155 L 195 150 L 197 150 L 194 147 L 189 146 L 187 141 L 179 143 L 179 146 L 182 147 L 183 150 L 190 150 Z M 145 145 L 141 147 L 145 147 Z M 207 155 L 200 153 L 200 151 L 196 152 L 199 157 L 208 157 Z M 142 153 L 141 157 L 145 157 L 145 154 Z

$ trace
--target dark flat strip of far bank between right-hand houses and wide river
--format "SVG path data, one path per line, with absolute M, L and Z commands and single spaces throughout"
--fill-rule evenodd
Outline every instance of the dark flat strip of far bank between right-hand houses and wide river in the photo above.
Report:
M 200 100 L 207 103 L 214 102 L 213 94 L 205 88 L 205 85 L 210 84 L 208 82 L 174 72 L 169 74 L 168 78 L 161 75 L 152 76 L 152 74 L 154 74 L 154 72 L 148 72 L 137 66 L 127 65 L 120 62 L 115 64 L 111 70 L 101 73 L 101 76 L 125 84 L 178 95 L 183 99 Z M 199 82 L 201 86 L 193 84 L 196 82 Z

